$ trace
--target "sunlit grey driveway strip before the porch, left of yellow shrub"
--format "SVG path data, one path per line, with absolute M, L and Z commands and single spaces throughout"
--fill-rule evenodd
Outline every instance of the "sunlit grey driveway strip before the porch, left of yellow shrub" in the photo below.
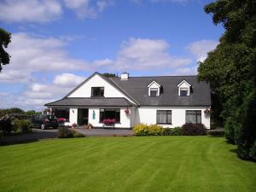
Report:
M 76 131 L 84 134 L 84 136 L 88 137 L 125 137 L 125 136 L 133 136 L 132 130 L 106 130 L 106 129 L 84 129 L 78 128 Z

